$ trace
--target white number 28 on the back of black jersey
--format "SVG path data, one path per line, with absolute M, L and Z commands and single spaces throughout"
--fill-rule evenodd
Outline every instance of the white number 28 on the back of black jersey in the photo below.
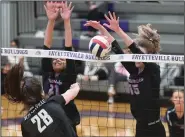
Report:
M 44 126 L 41 126 L 41 121 L 43 121 Z M 51 116 L 46 112 L 46 110 L 41 109 L 37 115 L 33 116 L 31 118 L 31 122 L 33 124 L 37 123 L 37 128 L 40 133 L 42 133 L 47 126 L 49 126 L 51 123 L 53 123 L 53 119 Z

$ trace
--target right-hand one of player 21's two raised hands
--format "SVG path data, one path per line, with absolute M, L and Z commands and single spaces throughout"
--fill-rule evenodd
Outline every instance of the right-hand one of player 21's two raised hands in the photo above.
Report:
M 71 13 L 74 9 L 74 6 L 72 7 L 72 2 L 67 3 L 67 1 L 65 1 L 64 3 L 61 3 L 61 8 L 60 8 L 60 15 L 64 20 L 68 20 L 71 17 Z

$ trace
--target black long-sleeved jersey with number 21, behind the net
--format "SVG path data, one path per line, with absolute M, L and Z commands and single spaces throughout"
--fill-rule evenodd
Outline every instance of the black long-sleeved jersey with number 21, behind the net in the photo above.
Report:
M 48 47 L 44 46 L 45 50 L 50 50 Z M 65 47 L 65 50 L 72 51 L 72 47 Z M 66 59 L 66 69 L 62 71 L 59 75 L 55 76 L 52 67 L 52 59 L 43 58 L 42 59 L 42 71 L 43 71 L 43 88 L 44 92 L 48 93 L 52 91 L 55 95 L 62 94 L 70 89 L 71 84 L 76 82 L 76 69 L 75 61 Z M 64 107 L 67 116 L 71 119 L 73 125 L 78 125 L 80 123 L 80 115 L 77 110 L 74 101 L 71 101 Z

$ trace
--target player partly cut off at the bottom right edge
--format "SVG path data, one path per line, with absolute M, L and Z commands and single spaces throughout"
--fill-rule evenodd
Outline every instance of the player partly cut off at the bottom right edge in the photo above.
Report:
M 174 91 L 173 107 L 166 112 L 170 137 L 184 137 L 184 92 Z

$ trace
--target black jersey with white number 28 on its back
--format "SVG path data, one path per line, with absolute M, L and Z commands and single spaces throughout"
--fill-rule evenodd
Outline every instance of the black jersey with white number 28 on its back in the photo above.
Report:
M 66 116 L 62 96 L 41 100 L 30 108 L 21 123 L 23 137 L 76 137 Z

